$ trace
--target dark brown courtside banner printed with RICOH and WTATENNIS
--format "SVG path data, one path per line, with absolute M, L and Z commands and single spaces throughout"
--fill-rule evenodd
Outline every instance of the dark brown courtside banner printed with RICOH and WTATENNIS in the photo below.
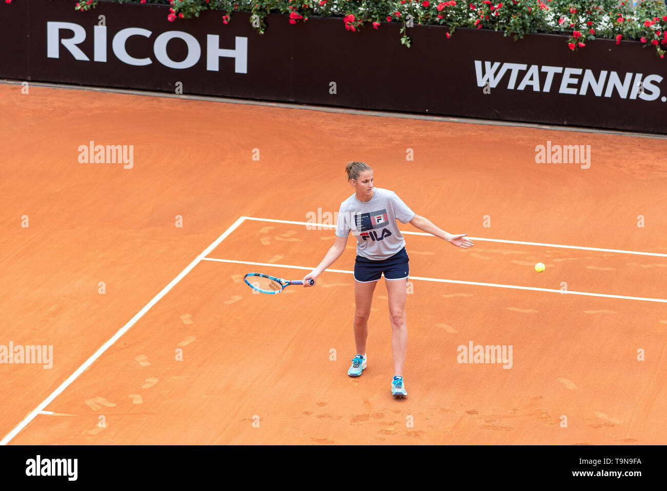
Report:
M 568 49 L 562 35 L 344 29 L 249 13 L 167 21 L 168 7 L 21 0 L 0 7 L 0 77 L 667 133 L 667 61 L 636 41 Z

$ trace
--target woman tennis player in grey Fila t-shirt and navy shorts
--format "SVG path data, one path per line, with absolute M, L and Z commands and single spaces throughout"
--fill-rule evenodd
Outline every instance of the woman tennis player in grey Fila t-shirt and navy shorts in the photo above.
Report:
M 401 223 L 412 223 L 415 227 L 453 246 L 468 249 L 473 246 L 466 233 L 453 235 L 416 215 L 400 197 L 389 189 L 373 186 L 373 170 L 364 162 L 348 162 L 348 181 L 354 194 L 340 205 L 336 242 L 319 263 L 319 266 L 303 277 L 303 286 L 311 286 L 306 280 L 314 280 L 345 251 L 350 231 L 357 239 L 357 257 L 354 262 L 354 343 L 356 355 L 348 370 L 350 377 L 358 377 L 366 370 L 366 339 L 368 338 L 368 317 L 371 312 L 373 292 L 378 280 L 384 274 L 389 294 L 389 317 L 392 324 L 392 351 L 394 352 L 394 378 L 392 395 L 407 396 L 403 380 L 403 366 L 408 344 L 406 324 L 406 282 L 410 276 L 406 241 L 398 229 Z

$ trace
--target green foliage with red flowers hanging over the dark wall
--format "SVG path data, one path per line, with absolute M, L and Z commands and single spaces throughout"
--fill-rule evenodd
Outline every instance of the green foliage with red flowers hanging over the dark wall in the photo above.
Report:
M 77 10 L 88 10 L 99 0 L 79 1 Z M 653 46 L 664 57 L 667 49 L 667 11 L 663 0 L 113 0 L 171 4 L 168 21 L 199 17 L 206 9 L 223 11 L 221 21 L 235 11 L 251 13 L 253 28 L 266 29 L 269 13 L 289 15 L 289 23 L 309 17 L 342 17 L 348 31 L 383 23 L 400 23 L 401 43 L 410 47 L 410 29 L 416 25 L 446 25 L 446 36 L 457 27 L 494 29 L 520 39 L 530 33 L 568 34 L 568 47 L 578 50 L 596 38 L 635 39 Z

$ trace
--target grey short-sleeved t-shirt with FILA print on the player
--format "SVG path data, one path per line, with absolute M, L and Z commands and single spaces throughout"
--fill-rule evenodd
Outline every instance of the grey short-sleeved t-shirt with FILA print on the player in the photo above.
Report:
M 363 203 L 353 194 L 340 204 L 336 235 L 357 239 L 357 254 L 380 261 L 394 256 L 406 246 L 396 220 L 408 223 L 415 213 L 389 189 L 374 187 L 373 197 Z

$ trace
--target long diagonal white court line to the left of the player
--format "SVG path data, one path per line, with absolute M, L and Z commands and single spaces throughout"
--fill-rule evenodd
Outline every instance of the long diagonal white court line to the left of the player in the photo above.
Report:
M 79 368 L 77 368 L 77 370 L 73 374 L 71 374 L 67 378 L 67 380 L 65 380 L 65 382 L 60 384 L 60 386 L 56 390 L 51 392 L 51 395 L 49 397 L 47 397 L 45 400 L 43 400 L 43 402 L 41 402 L 41 404 L 39 404 L 39 406 L 37 406 L 37 408 L 35 408 L 35 410 L 33 410 L 33 412 L 28 414 L 28 416 L 26 416 L 23 421 L 21 421 L 13 430 L 11 430 L 11 432 L 9 432 L 5 436 L 5 438 L 0 440 L 0 445 L 7 445 L 7 443 L 12 438 L 14 438 L 17 434 L 19 434 L 19 432 L 21 430 L 23 430 L 23 428 L 25 428 L 25 426 L 27 426 L 27 424 L 29 424 L 29 422 L 31 422 L 35 418 L 35 416 L 37 416 L 37 414 L 42 414 L 44 408 L 47 405 L 51 404 L 51 401 L 53 401 L 55 398 L 57 398 L 57 396 L 59 396 L 59 394 L 61 392 L 63 392 L 63 390 L 65 390 L 72 382 L 74 382 L 74 380 L 79 375 L 81 375 L 85 370 L 87 370 L 87 368 L 89 366 L 91 366 L 93 364 L 93 362 L 95 362 L 95 360 L 97 360 L 97 358 L 99 358 L 99 356 L 101 356 L 101 354 L 103 354 L 107 349 L 109 349 L 109 347 L 111 345 L 113 345 L 118 340 L 118 338 L 123 336 L 123 334 L 125 334 L 125 332 L 127 332 L 127 330 L 129 330 L 129 328 L 134 326 L 134 324 L 137 322 L 137 320 L 139 320 L 143 316 L 143 314 L 148 312 L 151 309 L 151 307 L 153 307 L 155 304 L 157 304 L 157 302 L 159 302 L 159 300 L 163 296 L 165 296 L 167 294 L 167 292 L 169 292 L 169 290 L 171 290 L 171 288 L 173 288 L 173 286 L 175 286 L 175 284 L 177 284 L 179 281 L 181 281 L 183 279 L 183 277 L 192 270 L 192 268 L 197 266 L 197 264 L 199 264 L 199 262 L 201 262 L 201 260 L 203 260 L 203 258 L 207 254 L 209 254 L 209 252 L 211 252 L 213 249 L 215 249 L 219 245 L 219 243 L 221 243 L 221 241 L 223 241 L 227 237 L 227 235 L 229 235 L 231 232 L 233 232 L 236 227 L 241 225 L 241 223 L 243 223 L 243 217 L 239 217 L 239 219 L 237 219 L 231 225 L 231 227 L 229 227 L 227 230 L 225 230 L 222 233 L 222 235 L 217 237 L 217 239 L 215 239 L 215 241 L 213 243 L 211 243 L 210 246 L 208 246 L 201 254 L 199 254 L 199 256 L 197 256 L 197 258 L 195 258 L 195 260 L 193 262 L 191 262 L 185 268 L 185 270 L 181 271 L 176 278 L 171 280 L 171 282 L 167 286 L 165 286 L 165 288 L 163 288 L 161 292 L 159 292 L 159 294 L 157 294 L 155 297 L 153 297 L 153 300 L 148 302 L 141 310 L 139 310 L 139 312 L 137 312 L 137 314 L 133 318 L 131 318 L 127 322 L 127 324 L 125 324 L 125 326 L 123 326 L 116 334 L 114 334 L 113 337 L 110 340 L 105 342 L 105 344 L 103 344 L 101 346 L 101 348 L 99 348 L 99 350 L 97 350 L 95 353 L 93 353 L 93 355 L 90 358 L 88 358 L 85 362 L 83 362 L 83 364 Z M 47 413 L 48 412 L 45 412 L 44 414 L 47 414 Z

